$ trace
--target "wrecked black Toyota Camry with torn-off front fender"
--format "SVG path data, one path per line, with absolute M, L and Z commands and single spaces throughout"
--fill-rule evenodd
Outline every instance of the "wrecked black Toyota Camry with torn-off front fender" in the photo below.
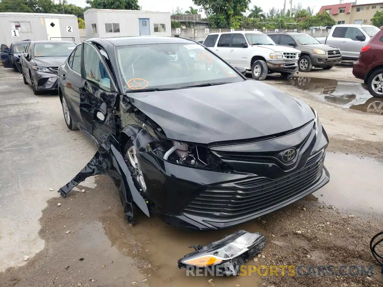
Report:
M 178 37 L 88 39 L 59 67 L 69 129 L 98 152 L 59 193 L 108 174 L 136 212 L 197 230 L 277 210 L 329 181 L 308 104 Z

